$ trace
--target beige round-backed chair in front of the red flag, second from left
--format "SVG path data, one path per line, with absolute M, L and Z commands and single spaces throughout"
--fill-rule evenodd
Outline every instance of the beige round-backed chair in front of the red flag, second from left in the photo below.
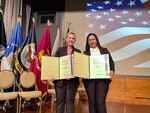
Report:
M 22 89 L 29 89 L 35 87 L 35 90 L 32 91 L 23 91 Z M 40 102 L 40 110 L 39 113 L 42 112 L 42 92 L 37 90 L 36 87 L 36 77 L 35 74 L 33 72 L 27 72 L 24 71 L 21 75 L 20 75 L 20 79 L 19 79 L 19 113 L 21 113 L 21 109 L 22 109 L 22 99 L 24 99 L 25 101 L 30 100 L 30 99 L 39 99 Z

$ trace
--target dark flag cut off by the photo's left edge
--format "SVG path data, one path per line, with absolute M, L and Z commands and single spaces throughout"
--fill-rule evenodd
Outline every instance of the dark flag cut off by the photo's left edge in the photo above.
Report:
M 4 29 L 3 12 L 0 11 L 0 60 L 6 48 L 6 34 Z

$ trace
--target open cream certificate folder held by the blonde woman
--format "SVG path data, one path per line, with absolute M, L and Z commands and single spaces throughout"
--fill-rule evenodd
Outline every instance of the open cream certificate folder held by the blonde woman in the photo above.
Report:
M 72 65 L 72 55 L 62 57 L 42 56 L 41 79 L 74 78 Z

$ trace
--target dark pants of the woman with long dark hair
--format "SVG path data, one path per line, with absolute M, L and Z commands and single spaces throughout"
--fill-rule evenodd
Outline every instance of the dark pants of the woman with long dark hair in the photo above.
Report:
M 106 95 L 109 83 L 103 80 L 90 80 L 84 83 L 89 101 L 90 113 L 107 113 Z

